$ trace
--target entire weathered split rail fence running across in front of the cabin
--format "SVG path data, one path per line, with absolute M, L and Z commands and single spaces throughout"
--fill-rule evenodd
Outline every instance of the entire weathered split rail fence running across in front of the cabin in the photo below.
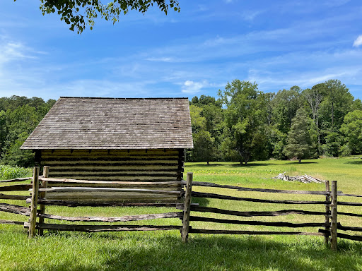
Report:
M 276 190 L 276 189 L 262 189 L 262 188 L 245 188 L 240 186 L 228 186 L 220 185 L 216 183 L 207 183 L 192 181 L 192 173 L 187 174 L 187 180 L 182 181 L 185 186 L 183 191 L 168 191 L 168 190 L 151 190 L 151 189 L 139 189 L 139 188 L 109 188 L 101 187 L 105 182 L 103 181 L 82 181 L 72 179 L 54 179 L 48 178 L 49 167 L 44 167 L 43 176 L 39 176 L 39 167 L 35 167 L 33 171 L 33 178 L 13 179 L 4 182 L 12 181 L 27 181 L 32 179 L 31 184 L 16 184 L 8 186 L 0 186 L 0 199 L 6 200 L 25 200 L 26 203 L 30 203 L 30 208 L 19 205 L 11 205 L 7 203 L 0 203 L 0 211 L 11 212 L 18 215 L 25 215 L 30 217 L 28 222 L 19 222 L 12 220 L 0 219 L 0 224 L 19 224 L 28 228 L 29 237 L 35 236 L 36 230 L 42 235 L 44 230 L 59 230 L 59 231 L 154 231 L 154 230 L 179 230 L 182 236 L 182 241 L 187 241 L 189 234 L 255 234 L 255 235 L 314 235 L 324 236 L 325 243 L 330 243 L 333 250 L 337 249 L 337 238 L 350 239 L 355 241 L 362 241 L 362 236 L 358 234 L 344 234 L 339 231 L 349 232 L 361 232 L 362 227 L 348 227 L 344 226 L 337 221 L 337 217 L 350 216 L 350 217 L 362 217 L 361 207 L 362 203 L 339 201 L 337 197 L 354 197 L 362 198 L 362 195 L 352 195 L 337 191 L 337 181 L 332 181 L 329 186 L 329 181 L 325 182 L 325 191 L 288 191 L 288 190 Z M 57 186 L 51 187 L 50 184 L 57 183 Z M 71 187 L 59 187 L 59 183 L 66 186 L 69 183 L 74 185 L 91 183 L 97 185 L 96 187 L 83 187 L 83 186 L 71 186 Z M 107 182 L 108 184 L 110 182 Z M 115 185 L 127 186 L 125 182 L 112 182 Z M 192 191 L 192 186 L 203 186 L 211 188 L 226 188 L 233 191 L 249 191 L 249 192 L 262 192 L 262 193 L 285 193 L 285 194 L 298 194 L 298 195 L 320 195 L 322 200 L 270 200 L 261 198 L 243 198 L 230 195 L 222 195 L 218 193 L 204 193 Z M 6 195 L 4 191 L 30 191 L 30 195 Z M 64 199 L 48 199 L 47 193 L 95 193 L 109 192 L 112 193 L 112 198 L 115 198 L 115 193 L 157 193 L 169 195 L 170 193 L 175 196 L 175 193 L 181 199 L 182 203 L 127 203 L 127 202 L 114 202 L 114 203 L 102 203 L 99 200 L 95 202 L 81 202 L 76 200 L 64 200 Z M 105 194 L 106 196 L 106 194 Z M 310 211 L 310 210 L 277 210 L 277 211 L 248 211 L 241 212 L 236 210 L 223 210 L 216 207 L 204 207 L 199 204 L 191 203 L 192 198 L 213 198 L 220 200 L 235 200 L 245 201 L 252 203 L 269 203 L 273 205 L 320 205 L 322 211 Z M 160 214 L 145 214 L 145 215 L 128 215 L 123 217 L 64 217 L 60 215 L 51 215 L 45 212 L 47 205 L 62 205 L 69 207 L 76 206 L 159 206 L 159 207 L 175 207 L 177 212 L 166 212 Z M 354 206 L 359 207 L 359 212 L 338 212 L 337 206 Z M 39 208 L 38 208 L 39 206 Z M 308 223 L 292 223 L 292 222 L 263 222 L 255 220 L 239 220 L 239 219 L 220 219 L 212 217 L 201 217 L 192 215 L 193 212 L 208 212 L 222 215 L 233 215 L 235 217 L 271 217 L 281 215 L 317 215 L 325 217 L 324 222 L 308 222 Z M 57 219 L 66 222 L 131 222 L 148 219 L 160 219 L 160 218 L 179 218 L 180 224 L 176 225 L 129 225 L 129 224 L 99 224 L 99 225 L 86 225 L 86 224 L 50 224 L 45 223 L 46 219 Z M 38 222 L 37 222 L 38 218 Z M 340 219 L 342 221 L 342 219 Z M 239 224 L 239 225 L 255 225 L 266 227 L 288 227 L 288 228 L 303 228 L 303 227 L 315 227 L 317 231 L 243 231 L 243 230 L 224 230 L 220 228 L 216 229 L 195 229 L 191 227 L 190 222 L 214 222 L 222 224 Z M 338 232 L 337 232 L 338 231 Z

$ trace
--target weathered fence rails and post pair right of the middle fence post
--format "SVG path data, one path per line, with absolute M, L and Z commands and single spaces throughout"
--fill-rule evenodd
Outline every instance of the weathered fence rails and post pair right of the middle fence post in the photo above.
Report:
M 182 183 L 185 184 L 185 181 Z M 267 226 L 267 227 L 288 227 L 288 228 L 302 228 L 302 227 L 317 227 L 317 232 L 308 231 L 245 231 L 245 230 L 223 230 L 223 229 L 194 229 L 188 228 L 188 234 L 248 234 L 248 235 L 313 235 L 313 236 L 324 236 L 325 243 L 330 243 L 333 250 L 337 249 L 337 237 L 343 239 L 351 239 L 356 241 L 362 241 L 360 235 L 349 235 L 337 232 L 337 230 L 344 231 L 355 231 L 361 232 L 362 227 L 346 227 L 337 222 L 337 215 L 348 215 L 352 217 L 362 217 L 361 213 L 350 213 L 350 212 L 337 212 L 338 205 L 346 206 L 362 206 L 362 203 L 355 202 L 344 202 L 337 200 L 337 197 L 356 197 L 361 198 L 361 195 L 345 194 L 337 191 L 337 181 L 332 181 L 332 186 L 329 186 L 329 181 L 325 182 L 325 191 L 293 191 L 293 190 L 277 190 L 277 189 L 264 189 L 264 188 L 246 188 L 240 186 L 228 186 L 220 185 L 216 183 L 206 182 L 192 182 L 192 186 L 204 186 L 211 188 L 226 188 L 235 191 L 250 191 L 250 192 L 263 192 L 263 193 L 285 193 L 285 194 L 296 194 L 296 195 L 322 195 L 324 200 L 267 200 L 262 198 L 244 198 L 230 195 L 221 195 L 218 193 L 203 193 L 192 191 L 191 195 L 195 198 L 214 198 L 220 200 L 236 200 L 245 201 L 252 203 L 269 203 L 269 204 L 283 204 L 283 205 L 322 205 L 325 206 L 322 211 L 309 211 L 309 210 L 295 210 L 286 209 L 278 211 L 262 211 L 262 212 L 240 212 L 237 210 L 223 210 L 215 207 L 204 207 L 204 206 L 190 206 L 191 212 L 209 212 L 214 214 L 222 215 L 233 215 L 235 217 L 270 217 L 270 216 L 284 216 L 284 215 L 317 215 L 324 216 L 325 222 L 307 222 L 307 223 L 291 223 L 291 222 L 263 222 L 263 221 L 248 221 L 238 219 L 220 219 L 212 217 L 201 217 L 201 216 L 189 216 L 189 221 L 195 222 L 214 222 L 223 224 L 239 224 L 239 225 L 255 225 L 255 226 Z M 330 236 L 330 237 L 329 237 Z

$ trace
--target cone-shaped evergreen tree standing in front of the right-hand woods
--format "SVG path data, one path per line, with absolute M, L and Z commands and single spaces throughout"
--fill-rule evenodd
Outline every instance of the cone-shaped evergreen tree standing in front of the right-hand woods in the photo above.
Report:
M 310 137 L 310 121 L 303 108 L 298 109 L 296 117 L 292 120 L 291 130 L 288 133 L 287 145 L 284 147 L 284 154 L 298 162 L 310 157 L 312 149 L 312 138 Z

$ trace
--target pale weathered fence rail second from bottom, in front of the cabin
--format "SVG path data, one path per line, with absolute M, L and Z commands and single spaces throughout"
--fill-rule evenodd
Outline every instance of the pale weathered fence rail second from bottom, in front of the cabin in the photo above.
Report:
M 149 219 L 182 217 L 182 212 L 165 212 L 163 214 L 148 214 L 148 215 L 127 215 L 124 217 L 64 217 L 60 215 L 39 214 L 38 217 L 48 219 L 58 219 L 65 221 L 83 221 L 83 222 L 129 222 Z

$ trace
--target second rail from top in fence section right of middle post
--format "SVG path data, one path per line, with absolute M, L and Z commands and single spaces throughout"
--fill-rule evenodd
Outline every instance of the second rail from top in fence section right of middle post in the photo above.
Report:
M 302 200 L 262 200 L 259 198 L 240 198 L 230 195 L 218 195 L 213 193 L 202 193 L 192 191 L 192 196 L 196 198 L 218 198 L 221 200 L 241 200 L 253 203 L 283 203 L 283 204 L 328 204 L 328 201 L 302 201 Z

